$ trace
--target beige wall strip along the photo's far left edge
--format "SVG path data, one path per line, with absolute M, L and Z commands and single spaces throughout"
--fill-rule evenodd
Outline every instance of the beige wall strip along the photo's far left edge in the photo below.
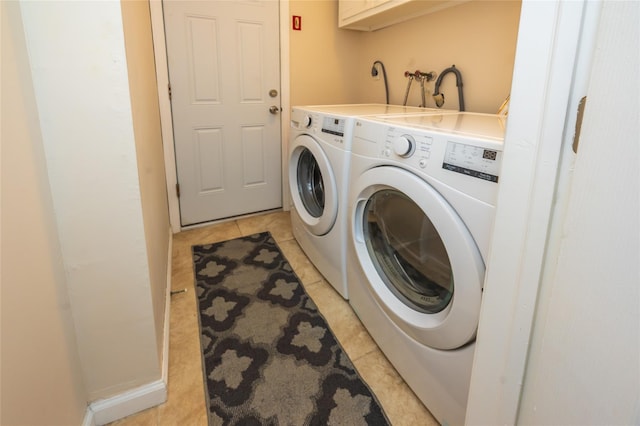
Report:
M 2 425 L 77 425 L 87 393 L 17 2 L 2 17 Z

